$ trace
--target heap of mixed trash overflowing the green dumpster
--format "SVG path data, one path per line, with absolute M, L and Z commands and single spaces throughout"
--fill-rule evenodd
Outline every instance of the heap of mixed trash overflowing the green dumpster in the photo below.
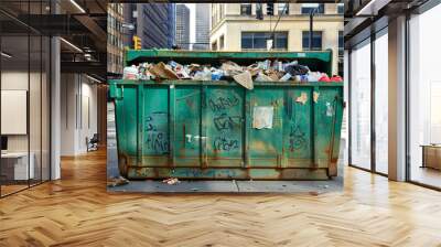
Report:
M 192 80 L 230 80 L 248 89 L 252 89 L 252 82 L 325 82 L 341 83 L 342 77 L 329 77 L 326 73 L 311 72 L 308 66 L 298 61 L 283 63 L 266 60 L 249 66 L 240 66 L 226 61 L 219 67 L 211 65 L 190 64 L 181 65 L 174 61 L 169 63 L 142 63 L 123 69 L 123 79 L 162 80 L 162 79 L 192 79 Z

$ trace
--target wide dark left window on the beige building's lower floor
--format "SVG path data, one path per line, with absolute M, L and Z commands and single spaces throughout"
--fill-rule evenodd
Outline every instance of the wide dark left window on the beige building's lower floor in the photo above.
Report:
M 243 32 L 241 50 L 267 50 L 271 36 L 270 32 Z M 288 50 L 288 32 L 276 32 L 273 44 L 276 50 Z

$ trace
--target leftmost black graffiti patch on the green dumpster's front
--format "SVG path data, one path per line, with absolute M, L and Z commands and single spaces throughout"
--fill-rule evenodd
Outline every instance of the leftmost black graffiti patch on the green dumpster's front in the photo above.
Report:
M 158 153 L 169 152 L 169 136 L 166 132 L 168 114 L 152 112 L 146 117 L 146 148 Z M 165 125 L 165 126 L 164 126 Z M 165 130 L 165 131 L 164 131 Z

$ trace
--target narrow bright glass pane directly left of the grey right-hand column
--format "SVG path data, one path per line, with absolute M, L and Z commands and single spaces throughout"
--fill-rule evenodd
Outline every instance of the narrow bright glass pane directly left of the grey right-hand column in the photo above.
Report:
M 375 41 L 375 168 L 388 173 L 388 37 Z

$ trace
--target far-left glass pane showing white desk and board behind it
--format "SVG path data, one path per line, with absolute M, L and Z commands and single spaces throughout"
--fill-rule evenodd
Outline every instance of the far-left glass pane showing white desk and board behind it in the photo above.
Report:
M 1 192 L 28 187 L 29 36 L 2 36 L 1 52 Z

